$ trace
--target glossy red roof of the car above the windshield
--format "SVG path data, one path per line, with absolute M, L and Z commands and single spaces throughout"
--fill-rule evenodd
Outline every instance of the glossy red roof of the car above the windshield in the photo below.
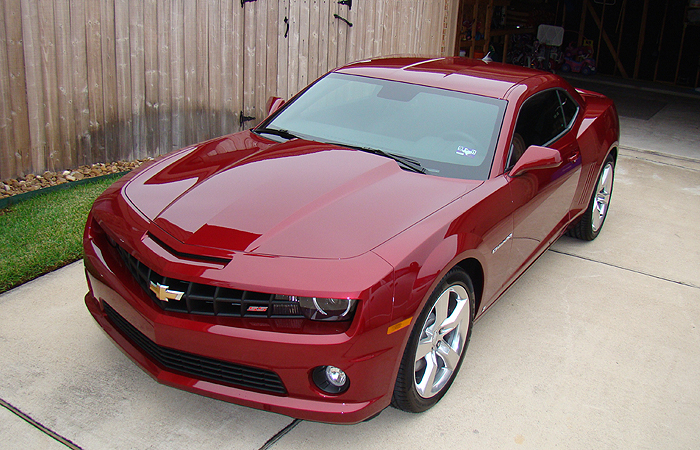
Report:
M 508 91 L 518 85 L 561 83 L 559 77 L 548 72 L 461 57 L 370 59 L 348 64 L 334 72 L 433 86 L 493 98 L 507 98 Z

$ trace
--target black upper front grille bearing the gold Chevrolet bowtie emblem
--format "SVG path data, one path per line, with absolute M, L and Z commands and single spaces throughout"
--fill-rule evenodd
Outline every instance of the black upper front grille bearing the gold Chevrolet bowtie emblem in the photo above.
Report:
M 143 290 L 165 311 L 229 317 L 302 318 L 287 296 L 193 283 L 159 275 L 121 247 L 119 254 Z M 155 292 L 159 292 L 162 300 Z M 178 295 L 181 294 L 181 295 Z M 179 297 L 179 299 L 178 299 Z

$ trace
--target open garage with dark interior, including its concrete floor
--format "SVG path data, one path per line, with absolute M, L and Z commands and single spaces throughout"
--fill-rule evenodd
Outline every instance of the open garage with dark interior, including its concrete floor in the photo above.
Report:
M 461 0 L 458 15 L 455 55 L 553 70 L 615 101 L 623 147 L 700 159 L 700 1 Z

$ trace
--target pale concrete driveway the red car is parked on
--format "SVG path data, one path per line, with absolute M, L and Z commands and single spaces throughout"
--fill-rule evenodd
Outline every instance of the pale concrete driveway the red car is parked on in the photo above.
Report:
M 491 308 L 449 394 L 354 426 L 157 384 L 94 323 L 77 262 L 0 295 L 0 448 L 700 448 L 698 224 L 700 163 L 623 150 L 602 234 Z

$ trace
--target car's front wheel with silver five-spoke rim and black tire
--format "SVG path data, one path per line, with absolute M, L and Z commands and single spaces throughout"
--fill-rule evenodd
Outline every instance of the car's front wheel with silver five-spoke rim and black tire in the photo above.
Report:
M 440 309 L 440 307 L 436 309 L 435 306 L 439 300 L 440 306 L 447 305 L 446 317 L 441 323 L 449 325 L 448 319 L 452 318 L 453 321 L 458 321 L 457 326 L 453 328 L 446 326 L 444 329 L 434 327 L 438 319 L 437 309 Z M 396 377 L 392 406 L 403 411 L 418 413 L 431 408 L 445 395 L 459 372 L 469 345 L 475 304 L 474 287 L 469 275 L 459 267 L 450 270 L 432 292 L 413 325 Z M 468 309 L 465 310 L 465 308 Z M 437 333 L 432 333 L 433 331 Z M 421 351 L 426 348 L 431 348 L 431 351 L 416 361 L 421 342 Z M 433 366 L 436 368 L 435 375 L 432 378 L 435 383 L 431 381 L 432 371 L 429 372 L 427 367 L 428 360 L 435 363 Z M 423 364 L 426 365 L 423 366 Z M 450 364 L 452 367 L 449 367 Z M 437 375 L 440 377 L 438 378 Z M 428 380 L 425 380 L 426 376 Z M 419 383 L 419 381 L 425 381 L 425 383 Z M 430 384 L 430 386 L 423 389 L 423 386 L 418 386 L 419 384 Z

